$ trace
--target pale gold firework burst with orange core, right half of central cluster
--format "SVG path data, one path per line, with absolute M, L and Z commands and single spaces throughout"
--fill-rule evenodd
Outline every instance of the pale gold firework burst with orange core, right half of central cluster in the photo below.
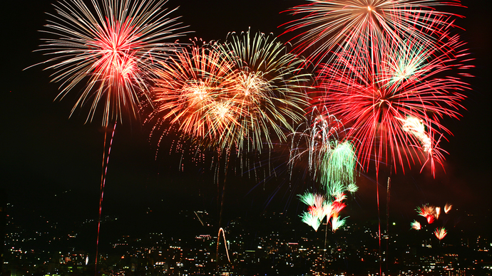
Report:
M 239 149 L 271 147 L 270 133 L 285 141 L 285 129 L 301 122 L 307 107 L 307 82 L 302 73 L 304 60 L 287 53 L 275 36 L 264 33 L 230 33 L 224 43 L 215 43 L 222 57 L 234 64 L 233 87 L 227 97 L 234 102 L 237 126 L 224 132 L 222 144 L 235 143 Z

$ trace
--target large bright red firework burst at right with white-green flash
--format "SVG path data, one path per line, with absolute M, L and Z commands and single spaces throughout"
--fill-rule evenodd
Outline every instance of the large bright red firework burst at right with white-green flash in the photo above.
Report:
M 465 65 L 462 46 L 458 36 L 441 48 L 405 41 L 394 44 L 374 66 L 364 61 L 371 55 L 364 48 L 339 55 L 320 71 L 317 88 L 321 92 L 314 95 L 313 103 L 326 105 L 329 114 L 351 127 L 348 135 L 357 141 L 355 148 L 364 168 L 374 158 L 376 171 L 383 161 L 400 165 L 404 171 L 405 165 L 416 160 L 425 164 L 421 155 L 426 149 L 434 173 L 434 160 L 441 163 L 444 158 L 437 144 L 450 133 L 441 118 L 460 116 L 462 91 L 468 88 L 455 76 L 459 70 L 468 75 L 465 69 L 470 67 Z M 430 141 L 422 140 L 424 134 L 409 132 L 409 117 L 426 129 L 425 138 Z

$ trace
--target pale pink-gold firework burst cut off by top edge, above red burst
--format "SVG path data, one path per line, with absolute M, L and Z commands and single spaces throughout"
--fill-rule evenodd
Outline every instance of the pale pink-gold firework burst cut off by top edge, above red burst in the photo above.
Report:
M 460 17 L 436 6 L 461 6 L 459 1 L 439 0 L 309 0 L 287 12 L 301 18 L 286 23 L 294 33 L 297 53 L 319 64 L 330 51 L 371 51 L 375 60 L 392 43 L 414 39 L 434 44 L 447 36 L 453 18 Z M 439 44 L 439 43 L 438 43 Z M 374 61 L 374 60 L 373 60 Z

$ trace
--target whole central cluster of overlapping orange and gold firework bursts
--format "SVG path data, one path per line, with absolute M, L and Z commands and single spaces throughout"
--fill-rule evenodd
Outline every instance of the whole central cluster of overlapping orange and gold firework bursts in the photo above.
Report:
M 224 43 L 192 46 L 163 63 L 155 80 L 153 117 L 178 124 L 200 144 L 261 151 L 302 119 L 307 95 L 303 61 L 282 43 L 250 32 Z

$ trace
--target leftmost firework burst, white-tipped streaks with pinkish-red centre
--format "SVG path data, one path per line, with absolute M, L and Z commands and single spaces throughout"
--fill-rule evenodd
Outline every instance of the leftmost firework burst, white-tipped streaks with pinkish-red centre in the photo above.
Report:
M 120 119 L 123 110 L 137 115 L 140 100 L 150 100 L 148 78 L 184 34 L 177 18 L 169 17 L 174 10 L 163 7 L 165 2 L 93 0 L 88 7 L 73 0 L 53 5 L 56 15 L 43 32 L 56 38 L 44 38 L 41 45 L 41 51 L 53 57 L 41 64 L 56 70 L 52 81 L 61 83 L 58 99 L 83 86 L 71 114 L 88 104 L 91 121 L 101 105 L 107 126 L 111 119 Z

